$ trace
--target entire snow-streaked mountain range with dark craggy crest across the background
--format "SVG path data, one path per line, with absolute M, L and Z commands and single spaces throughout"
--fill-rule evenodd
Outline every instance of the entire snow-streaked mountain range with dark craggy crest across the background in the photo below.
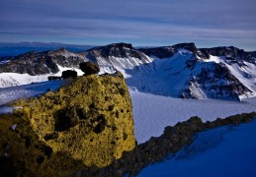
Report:
M 114 43 L 80 52 L 28 52 L 1 61 L 0 87 L 43 81 L 65 68 L 79 71 L 84 61 L 97 63 L 100 74 L 121 71 L 129 88 L 153 94 L 228 100 L 256 95 L 256 52 L 233 46 L 197 48 L 194 43 L 153 48 Z M 19 81 L 21 74 L 27 83 Z

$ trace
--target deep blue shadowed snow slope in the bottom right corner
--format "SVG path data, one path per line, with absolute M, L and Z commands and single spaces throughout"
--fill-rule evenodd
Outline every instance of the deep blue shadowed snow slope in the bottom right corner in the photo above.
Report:
M 174 158 L 144 168 L 137 176 L 254 177 L 256 121 L 199 133 Z M 171 155 L 170 155 L 171 157 Z

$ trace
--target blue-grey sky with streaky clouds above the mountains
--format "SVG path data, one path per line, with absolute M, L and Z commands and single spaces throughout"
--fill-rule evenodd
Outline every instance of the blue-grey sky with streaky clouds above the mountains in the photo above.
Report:
M 0 42 L 256 50 L 255 0 L 0 0 Z

